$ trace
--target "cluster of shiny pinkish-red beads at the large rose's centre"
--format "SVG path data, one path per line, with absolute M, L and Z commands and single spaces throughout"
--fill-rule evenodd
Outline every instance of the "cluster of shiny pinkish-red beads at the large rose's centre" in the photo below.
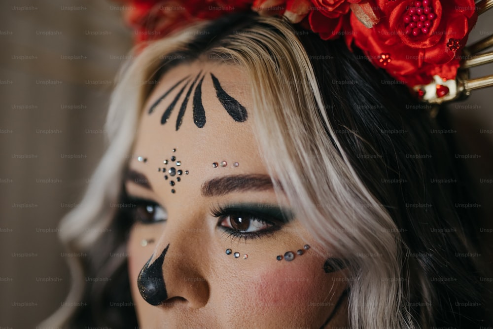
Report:
M 414 1 L 404 14 L 404 27 L 406 35 L 419 35 L 429 33 L 436 14 L 433 12 L 430 0 Z

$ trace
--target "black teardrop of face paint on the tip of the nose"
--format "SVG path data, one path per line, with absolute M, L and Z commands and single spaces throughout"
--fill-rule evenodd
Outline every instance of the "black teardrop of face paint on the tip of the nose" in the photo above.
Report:
M 163 277 L 163 261 L 168 248 L 170 248 L 169 244 L 163 250 L 161 256 L 149 266 L 151 256 L 144 267 L 142 267 L 139 278 L 137 279 L 137 286 L 139 287 L 142 298 L 151 305 L 159 305 L 168 299 L 168 292 L 166 292 Z

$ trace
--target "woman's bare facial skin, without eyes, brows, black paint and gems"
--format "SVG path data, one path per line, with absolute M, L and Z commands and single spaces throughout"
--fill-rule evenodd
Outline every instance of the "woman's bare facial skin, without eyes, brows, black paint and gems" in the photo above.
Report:
M 177 81 L 187 75 L 195 77 L 201 70 L 205 73 L 201 86 L 207 119 L 204 127 L 193 122 L 193 106 L 188 102 L 176 130 L 187 88 L 165 124 L 161 124 L 161 116 L 181 87 L 148 114 L 148 109 Z M 233 120 L 224 109 L 210 73 L 246 108 L 246 121 Z M 130 284 L 141 328 L 320 328 L 346 289 L 344 270 L 323 270 L 330 251 L 321 250 L 303 229 L 302 219 L 295 218 L 272 234 L 245 240 L 228 236 L 218 227 L 220 220 L 211 215 L 217 206 L 243 202 L 290 209 L 287 200 L 276 196 L 273 189 L 201 194 L 207 180 L 227 175 L 267 175 L 250 124 L 251 96 L 245 76 L 239 68 L 225 64 L 184 64 L 166 73 L 146 101 L 129 168 L 143 174 L 151 189 L 138 184 L 135 177 L 125 187 L 131 196 L 160 204 L 168 219 L 151 224 L 137 221 L 128 241 Z M 182 175 L 172 187 L 170 180 L 164 179 L 162 168 L 169 169 L 163 160 L 173 155 L 189 174 Z M 147 160 L 139 161 L 137 156 Z M 226 167 L 213 168 L 213 162 L 223 160 L 228 163 Z M 234 162 L 239 166 L 234 167 Z M 171 192 L 172 188 L 176 193 Z M 143 239 L 154 242 L 143 247 Z M 294 260 L 276 260 L 277 255 L 296 253 L 305 244 L 312 248 Z M 153 306 L 142 298 L 137 280 L 149 258 L 152 264 L 168 245 L 162 265 L 168 299 Z M 241 256 L 226 255 L 226 249 Z M 245 254 L 247 259 L 243 259 Z M 346 297 L 334 313 L 324 328 L 347 327 Z

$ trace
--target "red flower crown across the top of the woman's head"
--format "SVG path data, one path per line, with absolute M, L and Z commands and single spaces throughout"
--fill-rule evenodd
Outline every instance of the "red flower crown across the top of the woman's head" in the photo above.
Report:
M 478 11 L 474 0 L 119 0 L 136 42 L 166 36 L 192 22 L 254 10 L 283 15 L 322 39 L 343 37 L 376 67 L 428 102 L 457 99 L 461 55 Z M 479 7 L 479 9 L 478 9 Z M 482 50 L 482 49 L 481 49 Z

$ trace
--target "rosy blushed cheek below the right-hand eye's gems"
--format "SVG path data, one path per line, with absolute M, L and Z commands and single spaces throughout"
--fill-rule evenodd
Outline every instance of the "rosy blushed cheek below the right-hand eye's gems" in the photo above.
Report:
M 322 264 L 323 259 L 310 259 L 259 266 L 262 270 L 243 286 L 242 299 L 251 314 L 277 325 L 323 323 L 346 285 L 333 280 L 338 275 L 325 273 Z

